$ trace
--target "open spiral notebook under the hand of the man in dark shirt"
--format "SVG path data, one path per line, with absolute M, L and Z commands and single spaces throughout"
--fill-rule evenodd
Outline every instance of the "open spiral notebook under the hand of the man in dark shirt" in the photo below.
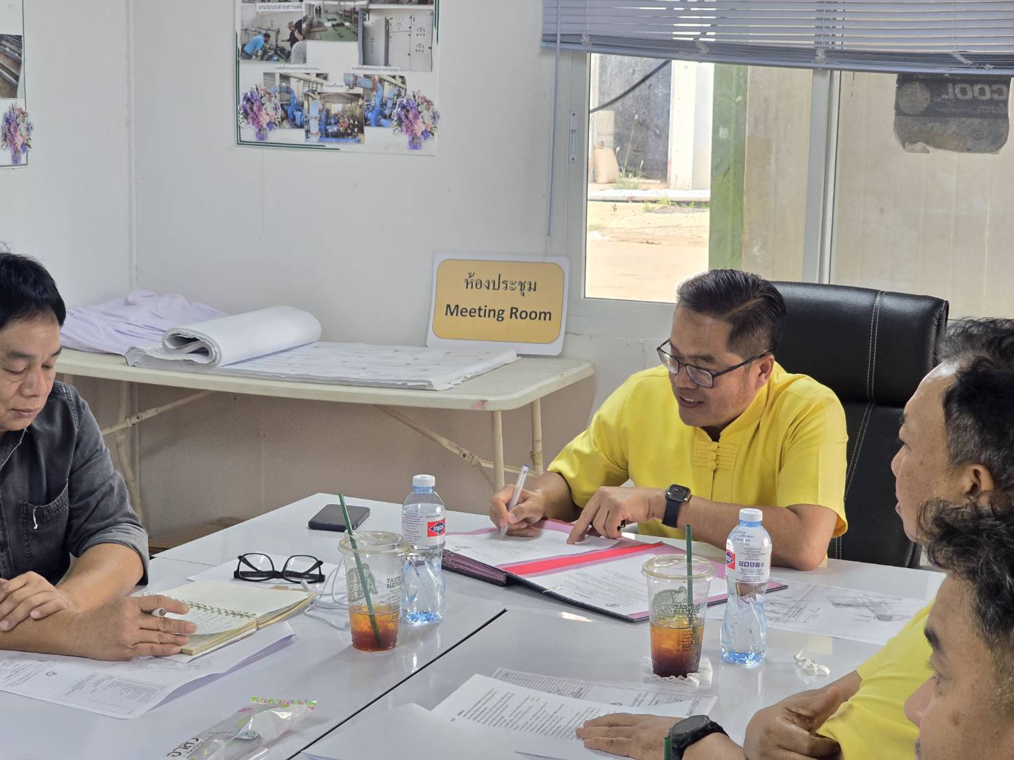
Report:
M 166 617 L 187 620 L 197 625 L 190 643 L 180 648 L 184 655 L 200 655 L 258 628 L 271 625 L 303 609 L 315 594 L 301 589 L 265 588 L 258 584 L 229 581 L 194 581 L 175 589 L 159 592 L 190 605 L 186 615 L 169 613 Z

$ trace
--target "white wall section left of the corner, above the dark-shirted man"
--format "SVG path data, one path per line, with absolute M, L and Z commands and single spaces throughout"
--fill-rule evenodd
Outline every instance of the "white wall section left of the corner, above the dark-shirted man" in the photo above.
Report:
M 0 241 L 42 259 L 68 305 L 130 285 L 125 1 L 24 3 L 28 165 L 0 169 Z

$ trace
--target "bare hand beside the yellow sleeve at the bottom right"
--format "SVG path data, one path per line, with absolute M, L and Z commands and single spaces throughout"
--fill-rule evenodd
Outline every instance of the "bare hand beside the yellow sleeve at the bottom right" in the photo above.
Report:
M 757 760 L 840 757 L 838 742 L 818 737 L 815 732 L 841 704 L 842 692 L 831 686 L 759 710 L 746 727 L 746 756 Z

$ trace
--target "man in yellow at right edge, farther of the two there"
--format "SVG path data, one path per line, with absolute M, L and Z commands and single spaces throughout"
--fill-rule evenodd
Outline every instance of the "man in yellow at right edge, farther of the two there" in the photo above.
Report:
M 895 509 L 917 541 L 926 538 L 919 511 L 928 501 L 961 504 L 991 491 L 1014 492 L 1014 320 L 958 323 L 948 330 L 941 357 L 906 404 L 901 445 L 891 462 Z M 919 732 L 906 717 L 904 702 L 932 675 L 924 635 L 931 606 L 856 671 L 757 712 L 744 748 L 713 734 L 691 745 L 683 758 L 912 760 Z M 608 742 L 629 739 L 630 757 L 654 757 L 651 748 L 660 746 L 671 720 L 630 718 L 622 731 L 609 725 L 614 716 L 589 725 L 582 730 L 585 743 L 608 752 Z

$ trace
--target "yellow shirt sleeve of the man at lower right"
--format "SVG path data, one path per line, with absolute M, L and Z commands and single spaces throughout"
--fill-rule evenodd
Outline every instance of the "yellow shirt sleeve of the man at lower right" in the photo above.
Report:
M 856 669 L 863 682 L 818 731 L 838 742 L 842 756 L 912 760 L 919 730 L 904 716 L 904 700 L 930 677 L 924 630 L 932 603 L 916 613 L 876 655 Z

